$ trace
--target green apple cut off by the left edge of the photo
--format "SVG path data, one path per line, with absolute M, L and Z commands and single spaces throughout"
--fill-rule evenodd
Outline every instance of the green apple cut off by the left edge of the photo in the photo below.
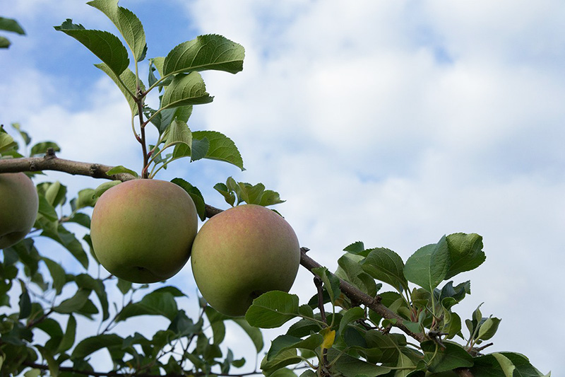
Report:
M 0 249 L 23 240 L 37 217 L 40 199 L 24 173 L 0 174 Z

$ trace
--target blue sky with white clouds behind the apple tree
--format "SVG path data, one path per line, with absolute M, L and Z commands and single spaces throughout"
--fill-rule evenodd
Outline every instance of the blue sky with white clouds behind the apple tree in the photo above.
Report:
M 28 35 L 6 35 L 13 46 L 0 52 L 0 121 L 57 141 L 61 158 L 139 170 L 121 93 L 96 57 L 52 28 L 73 18 L 115 32 L 105 16 L 76 0 L 1 4 Z M 143 22 L 149 57 L 207 33 L 246 49 L 241 73 L 203 73 L 214 102 L 189 121 L 234 140 L 246 170 L 177 161 L 158 178 L 182 177 L 222 208 L 215 183 L 263 182 L 331 270 L 357 240 L 406 260 L 444 234 L 479 233 L 487 260 L 456 277 L 472 284 L 460 313 L 484 302 L 484 315 L 502 318 L 489 351 L 520 352 L 544 373 L 565 368 L 561 0 L 119 4 Z M 49 178 L 71 192 L 98 183 Z M 195 290 L 189 267 L 172 281 Z M 291 293 L 314 294 L 305 269 Z

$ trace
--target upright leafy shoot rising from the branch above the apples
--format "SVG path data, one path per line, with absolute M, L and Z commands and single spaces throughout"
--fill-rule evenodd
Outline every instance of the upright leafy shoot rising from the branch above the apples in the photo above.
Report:
M 55 29 L 93 52 L 102 61 L 95 66 L 124 94 L 131 110 L 131 127 L 142 146 L 141 177 L 153 178 L 160 169 L 179 158 L 189 158 L 191 162 L 203 158 L 225 161 L 244 170 L 242 156 L 230 138 L 215 131 L 192 131 L 188 125 L 192 107 L 213 100 L 200 72 L 215 70 L 236 74 L 242 71 L 244 48 L 222 35 L 200 35 L 177 45 L 166 57 L 148 59 L 149 75 L 144 83 L 138 64 L 145 60 L 148 47 L 141 21 L 129 9 L 118 6 L 116 0 L 93 0 L 88 5 L 104 13 L 114 23 L 119 36 L 105 30 L 87 29 L 71 19 Z M 155 89 L 159 91 L 157 109 L 145 103 L 147 95 Z M 145 139 L 148 124 L 153 124 L 158 132 L 153 144 Z

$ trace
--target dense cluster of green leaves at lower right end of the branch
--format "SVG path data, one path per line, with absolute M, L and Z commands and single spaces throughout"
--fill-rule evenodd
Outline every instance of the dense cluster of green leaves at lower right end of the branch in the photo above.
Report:
M 298 319 L 271 343 L 263 373 L 296 376 L 297 366 L 306 366 L 300 376 L 457 376 L 457 369 L 472 376 L 542 376 L 521 354 L 482 354 L 491 344 L 477 346 L 494 336 L 500 319 L 483 317 L 480 308 L 465 320 L 468 335 L 463 335 L 453 307 L 470 294 L 470 281 L 449 279 L 481 265 L 482 247 L 481 236 L 454 233 L 403 262 L 387 248 L 348 245 L 334 273 L 326 267 L 311 270 L 323 289 L 308 303 L 273 291 L 256 298 L 247 311 L 246 320 L 262 328 Z M 355 301 L 343 293 L 343 282 L 374 299 Z M 375 300 L 391 314 L 375 311 Z M 391 332 L 396 327 L 420 334 L 422 341 L 410 343 L 404 334 Z

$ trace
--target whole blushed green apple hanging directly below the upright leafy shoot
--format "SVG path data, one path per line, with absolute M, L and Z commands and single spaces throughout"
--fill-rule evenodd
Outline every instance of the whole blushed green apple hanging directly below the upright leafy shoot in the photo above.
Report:
M 97 200 L 90 238 L 108 272 L 133 283 L 154 283 L 182 269 L 197 230 L 196 206 L 186 191 L 165 180 L 136 179 Z

